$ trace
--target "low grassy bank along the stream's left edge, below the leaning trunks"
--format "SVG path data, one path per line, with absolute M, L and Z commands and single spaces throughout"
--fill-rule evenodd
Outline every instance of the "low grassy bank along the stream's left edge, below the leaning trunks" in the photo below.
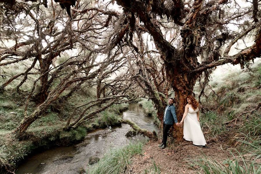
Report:
M 47 123 L 42 125 L 42 119 L 36 120 L 20 140 L 12 136 L 12 130 L 0 130 L 0 173 L 5 174 L 10 173 L 7 171 L 14 171 L 14 168 L 25 161 L 28 155 L 31 156 L 57 146 L 70 146 L 81 142 L 88 132 L 106 128 L 107 123 L 110 126 L 119 126 L 118 120 L 122 119 L 122 111 L 127 108 L 128 105 L 126 104 L 112 106 L 104 113 L 98 114 L 97 118 L 92 121 L 68 132 L 62 131 L 66 119 L 53 122 L 54 119 L 49 115 L 42 118 Z M 109 117 L 104 118 L 104 115 L 109 115 Z M 56 117 L 55 115 L 54 118 Z

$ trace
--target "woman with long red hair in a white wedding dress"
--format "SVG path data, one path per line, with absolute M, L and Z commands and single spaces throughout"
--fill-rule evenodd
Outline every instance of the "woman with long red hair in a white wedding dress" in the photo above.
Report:
M 183 138 L 192 141 L 194 145 L 205 146 L 206 140 L 199 123 L 199 104 L 191 95 L 187 97 L 187 102 L 188 104 L 185 106 L 185 112 L 180 122 L 180 124 L 184 122 Z

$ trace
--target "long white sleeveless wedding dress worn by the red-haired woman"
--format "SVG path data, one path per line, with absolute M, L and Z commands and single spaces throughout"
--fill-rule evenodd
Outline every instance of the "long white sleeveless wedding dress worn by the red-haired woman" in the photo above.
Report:
M 197 121 L 196 110 L 189 107 L 188 114 L 184 119 L 183 135 L 187 141 L 192 141 L 195 145 L 206 145 L 205 137 L 201 131 L 200 123 Z

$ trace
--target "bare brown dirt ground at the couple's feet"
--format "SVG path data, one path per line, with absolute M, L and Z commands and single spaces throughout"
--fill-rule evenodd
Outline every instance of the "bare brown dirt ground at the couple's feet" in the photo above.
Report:
M 202 148 L 192 144 L 192 142 L 181 142 L 160 149 L 158 142 L 148 142 L 144 145 L 144 154 L 136 155 L 132 158 L 131 174 L 154 174 L 159 173 L 155 170 L 160 168 L 160 174 L 184 174 L 196 173 L 190 164 L 193 159 L 201 156 L 208 156 L 222 162 L 230 156 L 229 149 L 220 144 L 209 144 L 209 148 Z M 200 172 L 199 172 L 200 173 Z

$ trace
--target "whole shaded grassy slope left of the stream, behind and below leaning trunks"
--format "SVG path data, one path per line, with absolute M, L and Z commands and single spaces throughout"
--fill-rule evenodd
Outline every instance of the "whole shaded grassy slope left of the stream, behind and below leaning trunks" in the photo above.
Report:
M 89 131 L 118 125 L 119 113 L 128 107 L 127 104 L 115 104 L 102 113 L 98 113 L 94 119 L 80 127 L 62 131 L 73 108 L 95 99 L 95 96 L 95 90 L 86 88 L 77 91 L 64 103 L 53 104 L 30 125 L 23 141 L 19 141 L 9 134 L 24 117 L 24 99 L 22 95 L 11 93 L 8 90 L 0 94 L 0 172 L 3 172 L 6 167 L 14 168 L 17 162 L 23 160 L 26 155 L 37 148 L 68 146 L 83 139 Z M 33 112 L 35 107 L 34 102 L 30 102 L 28 114 Z M 73 119 L 77 118 L 77 114 L 79 113 L 76 112 Z

